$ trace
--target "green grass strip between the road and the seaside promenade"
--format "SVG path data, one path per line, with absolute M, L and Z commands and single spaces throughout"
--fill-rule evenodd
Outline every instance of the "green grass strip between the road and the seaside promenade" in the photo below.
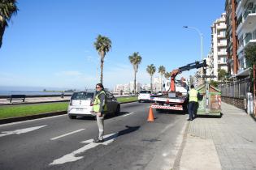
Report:
M 119 102 L 137 101 L 137 96 L 119 97 Z M 23 104 L 0 107 L 0 119 L 10 117 L 24 117 L 41 113 L 54 113 L 67 110 L 68 102 L 48 104 Z

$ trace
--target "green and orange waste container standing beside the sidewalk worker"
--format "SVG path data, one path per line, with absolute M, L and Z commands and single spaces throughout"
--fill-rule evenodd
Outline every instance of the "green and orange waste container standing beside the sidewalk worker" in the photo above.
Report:
M 209 83 L 197 87 L 197 91 L 202 96 L 202 100 L 198 100 L 197 115 L 220 116 L 221 91 Z

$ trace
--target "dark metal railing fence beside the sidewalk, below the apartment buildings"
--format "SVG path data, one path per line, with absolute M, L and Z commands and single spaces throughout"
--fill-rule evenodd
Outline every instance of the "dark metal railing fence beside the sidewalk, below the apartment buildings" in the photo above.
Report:
M 239 79 L 233 82 L 220 83 L 221 96 L 245 99 L 250 87 L 249 79 Z

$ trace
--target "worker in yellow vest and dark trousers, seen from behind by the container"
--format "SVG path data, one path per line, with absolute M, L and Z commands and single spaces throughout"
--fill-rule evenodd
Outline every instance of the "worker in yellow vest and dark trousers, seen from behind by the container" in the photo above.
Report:
M 188 121 L 193 121 L 194 118 L 194 113 L 197 108 L 197 95 L 198 91 L 194 88 L 193 84 L 190 86 L 190 91 L 189 91 L 189 119 Z

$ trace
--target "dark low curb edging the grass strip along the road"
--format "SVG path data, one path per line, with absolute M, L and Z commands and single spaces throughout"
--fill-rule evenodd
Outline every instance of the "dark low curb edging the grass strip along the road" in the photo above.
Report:
M 134 102 L 137 102 L 137 100 L 123 102 L 120 104 L 130 104 L 130 103 L 134 103 Z M 50 102 L 48 102 L 48 103 L 50 103 Z M 54 113 L 41 113 L 41 114 L 30 115 L 30 116 L 25 116 L 25 117 L 11 117 L 11 118 L 7 118 L 7 119 L 0 119 L 0 125 L 12 123 L 12 122 L 16 122 L 16 121 L 28 121 L 28 120 L 39 119 L 39 118 L 43 118 L 43 117 L 54 117 L 54 116 L 63 115 L 63 114 L 67 114 L 67 111 L 54 112 Z

